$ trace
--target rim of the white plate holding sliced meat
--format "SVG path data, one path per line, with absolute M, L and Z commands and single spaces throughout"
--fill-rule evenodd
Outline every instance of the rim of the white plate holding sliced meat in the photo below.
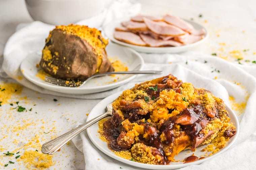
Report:
M 108 34 L 108 27 L 112 27 L 111 25 L 117 25 L 117 24 L 120 24 L 122 21 L 125 21 L 125 20 L 129 20 L 129 18 L 125 17 L 125 18 L 121 18 L 121 19 L 118 19 L 118 20 L 115 20 L 115 21 L 111 21 L 109 23 L 107 23 L 104 27 L 103 27 L 103 33 L 107 36 L 107 38 L 109 40 L 111 40 L 112 42 L 116 43 L 116 44 L 119 44 L 119 45 L 122 45 L 122 46 L 125 46 L 125 47 L 130 47 L 132 49 L 135 49 L 139 52 L 144 52 L 144 51 L 148 51 L 150 50 L 149 52 L 154 52 L 154 53 L 166 53 L 166 52 L 169 52 L 169 53 L 177 53 L 178 52 L 182 52 L 182 51 L 185 51 L 185 49 L 189 49 L 189 48 L 192 48 L 194 46 L 197 46 L 201 43 L 203 43 L 205 40 L 208 39 L 209 37 L 209 32 L 207 31 L 206 27 L 203 26 L 202 24 L 198 23 L 198 22 L 195 22 L 195 21 L 192 21 L 192 20 L 189 20 L 189 19 L 185 19 L 185 18 L 181 18 L 189 23 L 192 23 L 192 24 L 196 24 L 196 25 L 199 25 L 202 29 L 204 29 L 205 31 L 205 37 L 195 43 L 192 43 L 192 44 L 188 44 L 188 45 L 183 45 L 183 46 L 179 46 L 179 47 L 145 47 L 145 46 L 137 46 L 137 45 L 133 45 L 133 44 L 128 44 L 128 43 L 124 43 L 122 41 L 119 41 L 119 40 L 116 40 L 114 37 L 113 37 L 113 33 L 115 30 L 111 31 L 110 33 L 110 36 Z M 173 50 L 173 51 L 171 51 Z M 159 51 L 162 51 L 162 52 L 159 52 Z

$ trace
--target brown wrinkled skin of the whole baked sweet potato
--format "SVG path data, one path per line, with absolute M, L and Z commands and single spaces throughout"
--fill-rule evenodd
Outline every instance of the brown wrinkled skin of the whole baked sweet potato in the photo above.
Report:
M 42 54 L 39 63 L 46 73 L 61 79 L 85 80 L 97 71 L 99 73 L 114 71 L 105 49 L 102 49 L 103 57 L 98 69 L 98 55 L 86 40 L 76 35 L 64 34 L 60 29 L 54 29 L 50 34 L 49 40 L 46 39 L 44 49 L 50 50 L 52 58 L 47 61 Z M 51 65 L 56 66 L 55 70 Z

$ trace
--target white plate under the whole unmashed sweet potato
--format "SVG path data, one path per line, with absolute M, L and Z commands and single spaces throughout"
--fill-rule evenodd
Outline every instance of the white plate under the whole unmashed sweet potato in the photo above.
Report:
M 106 51 L 109 58 L 120 60 L 124 65 L 128 67 L 130 71 L 141 70 L 144 65 L 144 61 L 140 54 L 128 47 L 109 43 L 106 47 Z M 38 68 L 36 67 L 36 64 L 40 62 L 41 55 L 41 52 L 29 54 L 21 63 L 21 72 L 29 81 L 33 82 L 34 84 L 44 89 L 60 93 L 90 94 L 96 92 L 103 92 L 119 87 L 122 84 L 129 82 L 136 76 L 132 74 L 117 74 L 115 76 L 106 75 L 93 78 L 82 87 L 71 88 L 56 86 L 54 84 L 46 83 L 44 80 L 36 76 L 36 74 L 38 73 Z

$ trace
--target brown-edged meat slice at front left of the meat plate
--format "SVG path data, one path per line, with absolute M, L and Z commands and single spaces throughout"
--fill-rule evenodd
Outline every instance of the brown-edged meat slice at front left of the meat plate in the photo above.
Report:
M 114 38 L 125 43 L 146 46 L 146 43 L 138 35 L 131 32 L 116 31 L 114 32 Z

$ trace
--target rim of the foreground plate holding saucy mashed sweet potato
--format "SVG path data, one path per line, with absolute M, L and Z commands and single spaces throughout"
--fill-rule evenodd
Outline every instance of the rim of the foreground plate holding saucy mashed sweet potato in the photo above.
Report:
M 106 98 L 104 98 L 103 100 L 101 100 L 100 102 L 98 102 L 93 108 L 92 110 L 90 111 L 87 119 L 86 119 L 86 122 L 88 122 L 89 120 L 91 120 L 92 118 L 98 116 L 98 115 L 95 115 L 94 117 L 92 116 L 92 113 L 94 110 L 96 110 L 96 108 L 100 105 L 102 105 L 101 103 L 104 103 L 105 101 L 113 101 L 113 99 L 116 99 L 118 96 L 120 96 L 122 94 L 122 91 L 120 92 L 117 92 L 115 94 L 112 94 Z M 111 103 L 111 102 L 109 102 Z M 122 163 L 125 163 L 129 166 L 134 166 L 134 167 L 138 167 L 138 168 L 145 168 L 145 169 L 156 169 L 156 170 L 168 170 L 168 169 L 177 169 L 177 168 L 183 168 L 183 167 L 186 167 L 186 166 L 189 166 L 189 165 L 197 165 L 197 164 L 201 164 L 202 162 L 204 161 L 207 161 L 211 158 L 214 158 L 215 156 L 225 152 L 226 150 L 228 150 L 233 144 L 234 142 L 236 141 L 237 139 L 237 136 L 239 135 L 239 121 L 238 121 L 238 118 L 236 116 L 236 114 L 232 111 L 232 109 L 225 105 L 226 106 L 226 110 L 228 111 L 229 115 L 232 114 L 232 117 L 234 118 L 234 122 L 232 123 L 235 123 L 236 124 L 236 134 L 232 137 L 232 141 L 227 145 L 225 146 L 224 148 L 222 148 L 219 152 L 213 154 L 212 156 L 209 156 L 209 157 L 206 157 L 205 159 L 201 159 L 201 160 L 197 160 L 197 161 L 194 161 L 194 162 L 190 162 L 190 163 L 186 163 L 186 164 L 174 164 L 174 165 L 152 165 L 152 164 L 145 164 L 145 163 L 139 163 L 139 162 L 134 162 L 134 161 L 130 161 L 130 160 L 127 160 L 127 159 L 124 159 L 124 158 L 121 158 L 117 155 L 115 155 L 112 151 L 110 151 L 108 149 L 105 150 L 105 149 L 101 149 L 100 145 L 98 145 L 98 143 L 94 140 L 92 134 L 90 133 L 90 128 L 91 127 L 88 127 L 86 129 L 86 132 L 87 132 L 87 135 L 89 136 L 90 140 L 92 141 L 93 145 L 97 147 L 97 149 L 99 149 L 101 152 L 103 152 L 104 154 L 106 154 L 107 156 L 117 160 L 117 161 L 120 161 Z M 99 114 L 100 115 L 100 114 Z M 96 122 L 98 124 L 98 122 Z M 95 135 L 96 137 L 99 137 L 98 135 Z M 110 151 L 110 152 L 109 152 Z

